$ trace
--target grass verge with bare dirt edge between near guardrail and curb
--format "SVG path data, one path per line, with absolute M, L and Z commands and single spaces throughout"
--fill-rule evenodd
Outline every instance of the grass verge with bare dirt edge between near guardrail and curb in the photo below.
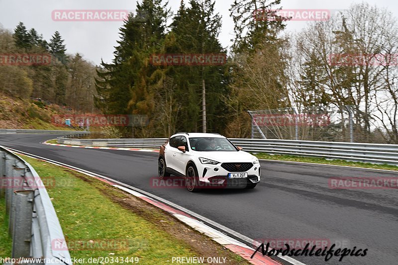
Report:
M 172 257 L 225 257 L 227 264 L 249 264 L 141 199 L 93 177 L 23 158 L 40 177 L 55 179 L 47 190 L 72 258 L 137 257 L 140 264 L 170 264 Z

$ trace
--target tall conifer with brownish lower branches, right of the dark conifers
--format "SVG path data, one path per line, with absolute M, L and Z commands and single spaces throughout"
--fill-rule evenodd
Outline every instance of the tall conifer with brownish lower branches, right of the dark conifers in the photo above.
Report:
M 281 0 L 235 0 L 229 9 L 234 21 L 228 98 L 231 117 L 228 128 L 239 128 L 229 137 L 247 137 L 247 110 L 284 108 L 290 105 L 286 84 L 286 39 L 280 38 L 286 17 L 278 15 Z M 231 131 L 231 130 L 229 130 Z

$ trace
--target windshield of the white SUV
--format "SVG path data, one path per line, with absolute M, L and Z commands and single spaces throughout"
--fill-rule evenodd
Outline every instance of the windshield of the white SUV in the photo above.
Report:
M 194 151 L 238 151 L 225 138 L 197 137 L 190 138 L 191 149 Z

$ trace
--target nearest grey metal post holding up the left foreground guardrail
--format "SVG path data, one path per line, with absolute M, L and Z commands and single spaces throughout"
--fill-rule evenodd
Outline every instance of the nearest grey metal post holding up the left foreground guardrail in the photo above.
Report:
M 29 258 L 34 191 L 31 189 L 15 190 L 13 197 L 15 218 L 11 257 L 13 259 Z

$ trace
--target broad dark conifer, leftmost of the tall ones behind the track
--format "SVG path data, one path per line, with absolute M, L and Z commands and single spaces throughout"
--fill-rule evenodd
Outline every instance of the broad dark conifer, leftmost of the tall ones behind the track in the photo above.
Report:
M 113 114 L 150 115 L 148 79 L 155 71 L 147 61 L 159 50 L 170 9 L 162 0 L 143 0 L 137 14 L 131 13 L 120 30 L 120 40 L 111 64 L 101 63 L 96 81 L 96 102 L 102 111 Z

